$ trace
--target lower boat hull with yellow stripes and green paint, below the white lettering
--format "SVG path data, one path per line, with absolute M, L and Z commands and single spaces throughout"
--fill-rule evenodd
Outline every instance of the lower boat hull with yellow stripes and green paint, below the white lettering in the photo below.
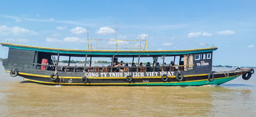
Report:
M 10 71 L 6 71 L 10 72 Z M 73 72 L 75 73 L 75 72 Z M 86 83 L 82 82 L 81 77 L 59 76 L 52 80 L 49 75 L 30 74 L 19 72 L 19 76 L 28 81 L 47 85 L 75 85 L 75 86 L 202 86 L 216 84 L 220 85 L 242 75 L 243 72 L 215 73 L 213 81 L 208 80 L 208 74 L 184 75 L 182 81 L 177 81 L 175 76 L 168 76 L 167 81 L 163 81 L 161 76 L 155 77 L 133 77 L 127 81 L 126 77 L 87 77 Z M 129 78 L 130 79 L 130 78 Z

